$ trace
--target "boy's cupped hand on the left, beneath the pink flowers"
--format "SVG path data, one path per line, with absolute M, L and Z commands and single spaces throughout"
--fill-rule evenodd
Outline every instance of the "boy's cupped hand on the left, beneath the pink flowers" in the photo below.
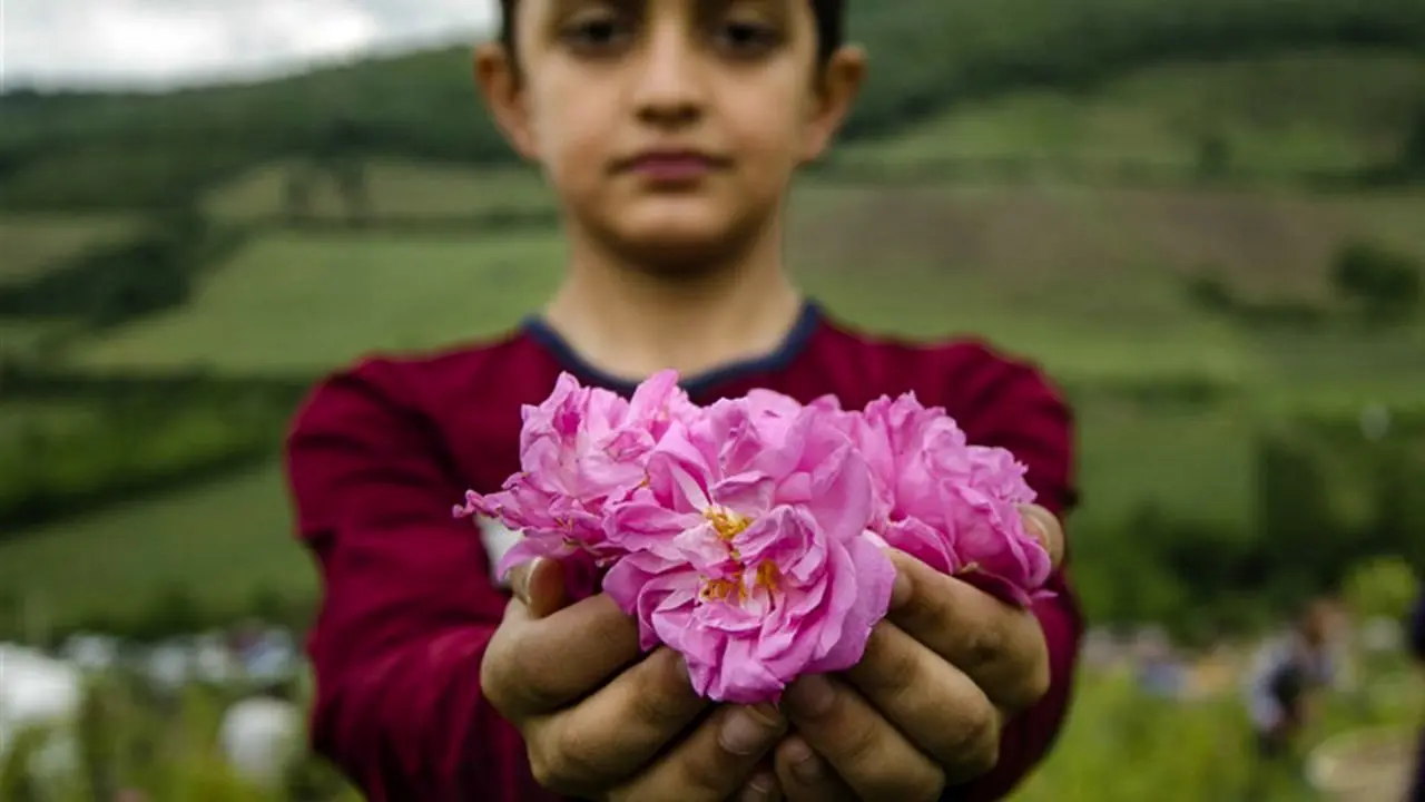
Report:
M 781 714 L 720 705 L 701 716 L 708 702 L 677 652 L 638 659 L 638 625 L 607 595 L 564 606 L 556 561 L 516 569 L 513 585 L 480 686 L 524 736 L 540 785 L 608 801 L 775 798 L 760 762 L 787 731 Z

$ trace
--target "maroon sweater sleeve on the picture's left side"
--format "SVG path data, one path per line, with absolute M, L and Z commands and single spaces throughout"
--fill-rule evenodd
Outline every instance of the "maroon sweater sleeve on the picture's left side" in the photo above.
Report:
M 543 799 L 519 734 L 480 692 L 506 597 L 463 487 L 393 367 L 323 382 L 286 442 L 298 535 L 322 606 L 308 645 L 314 749 L 373 802 Z

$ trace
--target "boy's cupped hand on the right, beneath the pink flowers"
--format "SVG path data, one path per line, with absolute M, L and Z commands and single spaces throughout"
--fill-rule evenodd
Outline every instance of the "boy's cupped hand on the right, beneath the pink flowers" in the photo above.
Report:
M 1025 509 L 1054 567 L 1059 521 Z M 905 554 L 896 591 L 862 661 L 844 676 L 807 676 L 782 709 L 797 735 L 777 749 L 789 802 L 939 799 L 992 769 L 1005 721 L 1049 689 L 1039 621 Z

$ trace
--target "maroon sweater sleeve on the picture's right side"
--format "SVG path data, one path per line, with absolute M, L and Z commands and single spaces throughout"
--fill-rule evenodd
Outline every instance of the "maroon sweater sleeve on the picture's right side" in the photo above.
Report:
M 1073 484 L 1073 417 L 1059 392 L 1039 371 L 989 355 L 980 370 L 956 377 L 969 392 L 966 420 L 979 445 L 1007 448 L 1023 462 L 1036 501 L 1064 517 L 1076 507 Z M 969 430 L 968 430 L 969 431 Z M 1064 547 L 1067 567 L 1069 545 Z M 1067 716 L 1084 621 L 1064 568 L 1049 581 L 1054 598 L 1039 601 L 1035 616 L 1045 631 L 1050 686 L 1040 702 L 1012 719 L 1000 739 L 999 763 L 975 782 L 948 792 L 948 799 L 986 802 L 1006 798 L 1049 753 Z

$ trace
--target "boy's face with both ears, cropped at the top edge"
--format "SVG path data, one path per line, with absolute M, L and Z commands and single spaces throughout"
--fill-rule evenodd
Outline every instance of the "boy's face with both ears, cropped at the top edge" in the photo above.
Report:
M 755 237 L 859 87 L 825 66 L 807 0 L 520 0 L 516 53 L 477 56 L 486 100 L 571 218 L 647 264 Z

